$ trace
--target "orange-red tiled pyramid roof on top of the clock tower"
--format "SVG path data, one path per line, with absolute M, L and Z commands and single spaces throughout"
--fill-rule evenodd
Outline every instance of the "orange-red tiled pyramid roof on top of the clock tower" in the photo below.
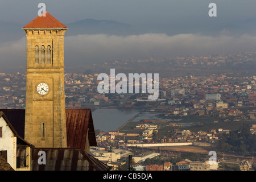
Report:
M 34 20 L 28 23 L 23 28 L 68 28 L 64 24 L 60 23 L 51 14 L 45 11 L 40 16 L 37 16 Z

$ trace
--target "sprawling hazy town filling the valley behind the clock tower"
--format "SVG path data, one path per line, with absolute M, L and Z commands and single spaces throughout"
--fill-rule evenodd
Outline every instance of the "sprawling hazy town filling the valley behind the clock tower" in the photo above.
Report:
M 95 128 L 97 147 L 90 147 L 90 154 L 114 170 L 254 170 L 255 61 L 256 53 L 244 52 L 66 68 L 65 107 L 139 110 L 115 130 Z M 158 99 L 148 100 L 144 93 L 98 93 L 97 76 L 110 68 L 123 73 L 154 69 L 160 73 Z M 24 109 L 26 74 L 0 73 L 0 85 L 1 108 Z M 155 117 L 143 118 L 145 113 Z M 214 165 L 210 151 L 217 154 Z

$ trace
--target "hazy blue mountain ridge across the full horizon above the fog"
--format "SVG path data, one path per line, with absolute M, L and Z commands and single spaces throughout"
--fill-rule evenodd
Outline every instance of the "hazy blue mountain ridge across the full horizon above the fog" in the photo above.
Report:
M 177 25 L 162 23 L 154 26 L 155 22 L 146 27 L 135 27 L 131 24 L 117 22 L 114 20 L 96 20 L 92 18 L 82 19 L 72 23 L 65 23 L 69 28 L 65 35 L 82 35 L 82 34 L 108 34 L 108 35 L 139 35 L 146 33 L 160 33 L 167 35 L 177 34 L 197 34 L 202 35 L 219 35 L 221 32 L 229 34 L 256 34 L 256 18 L 240 20 L 239 22 L 218 22 L 218 19 L 211 20 L 206 24 L 192 26 L 185 22 L 180 22 Z M 24 36 L 22 27 L 25 24 L 16 22 L 0 22 L 0 42 L 9 42 L 21 39 Z

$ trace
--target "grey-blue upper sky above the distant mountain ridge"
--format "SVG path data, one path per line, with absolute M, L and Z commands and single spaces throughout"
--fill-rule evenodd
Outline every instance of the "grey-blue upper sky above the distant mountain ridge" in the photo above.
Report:
M 27 24 L 38 13 L 35 0 L 1 0 L 0 22 Z M 47 11 L 67 24 L 93 18 L 115 20 L 135 26 L 172 26 L 181 24 L 208 26 L 209 24 L 239 23 L 256 18 L 253 0 L 55 0 L 47 2 Z M 208 5 L 217 4 L 217 17 L 209 18 Z

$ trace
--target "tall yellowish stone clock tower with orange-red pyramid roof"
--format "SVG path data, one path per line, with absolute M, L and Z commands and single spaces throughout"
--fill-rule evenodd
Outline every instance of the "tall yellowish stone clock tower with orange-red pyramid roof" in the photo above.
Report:
M 35 147 L 67 147 L 63 89 L 67 29 L 47 11 L 23 27 L 27 37 L 24 139 Z

